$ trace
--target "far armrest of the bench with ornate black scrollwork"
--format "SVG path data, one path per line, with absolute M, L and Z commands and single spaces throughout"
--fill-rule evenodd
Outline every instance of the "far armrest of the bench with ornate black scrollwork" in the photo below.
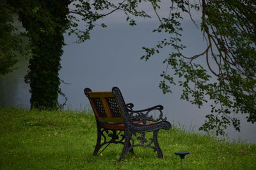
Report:
M 133 107 L 133 104 L 132 104 Z M 129 117 L 131 120 L 138 121 L 138 124 L 143 123 L 147 124 L 147 122 L 159 122 L 159 121 L 166 121 L 166 118 L 163 118 L 163 106 L 162 105 L 157 105 L 153 106 L 151 108 L 147 108 L 144 110 L 131 110 L 129 107 L 127 107 L 127 110 L 129 112 Z M 159 117 L 154 118 L 152 115 L 149 115 L 152 111 L 157 111 L 159 112 Z

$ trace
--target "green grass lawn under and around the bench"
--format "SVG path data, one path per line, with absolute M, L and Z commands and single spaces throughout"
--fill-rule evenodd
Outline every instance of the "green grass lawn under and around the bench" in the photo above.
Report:
M 174 152 L 188 150 L 186 169 L 256 169 L 256 145 L 227 143 L 178 128 L 159 131 L 164 159 L 134 148 L 118 162 L 122 145 L 92 156 L 93 115 L 79 111 L 27 111 L 0 107 L 0 169 L 180 169 Z

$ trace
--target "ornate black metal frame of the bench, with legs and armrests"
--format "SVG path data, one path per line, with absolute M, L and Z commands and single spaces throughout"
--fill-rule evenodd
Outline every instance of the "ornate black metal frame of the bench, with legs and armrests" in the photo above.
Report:
M 92 92 L 92 90 L 88 88 L 84 89 L 84 93 L 87 97 L 88 92 Z M 145 110 L 132 110 L 134 105 L 131 103 L 125 104 L 122 93 L 117 87 L 113 87 L 112 92 L 122 112 L 125 125 L 124 134 L 121 133 L 122 131 L 116 129 L 104 128 L 102 123 L 98 122 L 96 118 L 97 143 L 93 155 L 97 155 L 100 148 L 104 145 L 106 146 L 101 152 L 111 143 L 121 143 L 124 147 L 119 160 L 123 160 L 127 152 L 134 153 L 133 148 L 136 146 L 152 148 L 154 152 L 157 152 L 158 158 L 163 158 L 163 153 L 157 140 L 157 133 L 160 129 L 168 130 L 171 128 L 170 122 L 166 121 L 166 118 L 163 118 L 163 106 L 157 105 Z M 150 116 L 149 113 L 152 111 L 159 111 L 159 118 L 154 118 L 152 115 Z M 147 139 L 146 132 L 153 132 L 152 138 Z M 105 133 L 110 138 L 108 141 Z M 104 140 L 101 143 L 102 137 Z

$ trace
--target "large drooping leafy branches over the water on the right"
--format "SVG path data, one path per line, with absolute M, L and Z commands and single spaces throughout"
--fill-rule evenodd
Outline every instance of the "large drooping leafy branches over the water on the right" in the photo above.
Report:
M 159 8 L 159 6 L 156 8 Z M 163 46 L 171 46 L 173 52 L 164 60 L 173 71 L 165 71 L 159 87 L 163 92 L 172 92 L 175 85 L 173 76 L 180 79 L 181 99 L 199 108 L 211 101 L 211 113 L 206 116 L 200 130 L 214 130 L 224 134 L 227 125 L 239 131 L 240 121 L 230 113 L 246 113 L 248 122 L 256 121 L 256 3 L 254 1 L 202 1 L 202 4 L 189 4 L 189 1 L 172 1 L 169 18 L 159 18 L 157 32 L 168 32 L 154 48 L 144 48 L 147 60 Z M 202 53 L 184 56 L 181 44 L 181 13 L 191 16 L 191 9 L 202 10 L 201 31 L 207 47 Z M 157 15 L 158 16 L 158 15 Z M 193 20 L 193 18 L 191 18 Z M 196 59 L 205 57 L 207 66 L 198 64 Z M 170 71 L 169 70 L 169 71 Z M 207 71 L 208 70 L 208 71 Z

